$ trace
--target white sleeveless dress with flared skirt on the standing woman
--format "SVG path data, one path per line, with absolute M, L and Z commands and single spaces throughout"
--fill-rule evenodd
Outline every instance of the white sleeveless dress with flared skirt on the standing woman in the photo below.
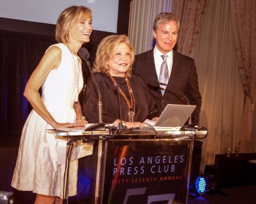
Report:
M 83 88 L 81 64 L 78 63 L 77 56 L 71 54 L 62 43 L 52 46 L 58 46 L 61 49 L 61 62 L 58 69 L 51 70 L 47 76 L 42 86 L 42 100 L 57 122 L 74 123 L 76 114 L 73 106 L 78 100 L 77 83 L 79 84 L 78 92 Z M 33 109 L 23 126 L 11 185 L 18 190 L 62 198 L 65 163 L 60 165 L 58 157 L 66 157 L 66 155 L 60 155 L 58 152 L 61 147 L 62 152 L 63 147 L 66 150 L 67 139 L 57 139 L 54 132 L 48 132 L 46 129 L 52 129 L 52 126 Z M 79 147 L 79 144 L 76 145 Z M 91 144 L 81 149 L 86 151 L 84 156 L 92 153 Z M 65 158 L 62 159 L 65 160 Z M 69 196 L 76 194 L 77 164 L 77 159 L 70 163 Z

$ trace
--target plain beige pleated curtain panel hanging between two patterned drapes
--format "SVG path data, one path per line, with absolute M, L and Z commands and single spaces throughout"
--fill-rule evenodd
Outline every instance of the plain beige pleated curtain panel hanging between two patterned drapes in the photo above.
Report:
M 202 172 L 214 164 L 216 154 L 225 154 L 227 148 L 234 152 L 242 139 L 244 90 L 235 50 L 230 2 L 209 0 L 191 53 L 203 101 L 199 123 L 209 130 L 203 140 Z

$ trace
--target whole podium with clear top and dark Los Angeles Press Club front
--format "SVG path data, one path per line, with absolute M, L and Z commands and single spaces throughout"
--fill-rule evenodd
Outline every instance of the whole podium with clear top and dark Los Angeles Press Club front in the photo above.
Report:
M 56 131 L 97 140 L 95 204 L 187 203 L 195 135 L 207 131 Z

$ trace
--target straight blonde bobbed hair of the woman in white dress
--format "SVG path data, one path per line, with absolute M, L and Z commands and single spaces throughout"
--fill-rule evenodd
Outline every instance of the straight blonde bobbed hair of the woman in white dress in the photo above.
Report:
M 70 6 L 61 12 L 55 30 L 55 39 L 58 43 L 68 43 L 68 31 L 81 17 L 92 18 L 92 11 L 85 6 Z

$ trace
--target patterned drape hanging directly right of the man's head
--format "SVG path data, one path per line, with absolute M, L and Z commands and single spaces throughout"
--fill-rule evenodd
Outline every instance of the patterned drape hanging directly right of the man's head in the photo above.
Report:
M 172 12 L 180 20 L 177 51 L 189 56 L 201 28 L 208 0 L 173 0 Z

